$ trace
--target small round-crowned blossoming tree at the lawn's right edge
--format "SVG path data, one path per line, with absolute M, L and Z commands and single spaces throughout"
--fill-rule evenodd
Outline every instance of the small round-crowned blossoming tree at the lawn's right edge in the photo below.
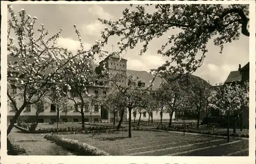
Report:
M 216 95 L 215 107 L 221 110 L 223 114 L 227 115 L 227 141 L 228 142 L 229 142 L 230 113 L 241 110 L 241 107 L 244 104 L 243 100 L 241 100 L 242 98 L 241 92 L 244 92 L 243 87 L 238 83 L 223 84 L 218 88 L 218 93 Z M 244 95 L 244 93 L 242 93 L 242 95 Z

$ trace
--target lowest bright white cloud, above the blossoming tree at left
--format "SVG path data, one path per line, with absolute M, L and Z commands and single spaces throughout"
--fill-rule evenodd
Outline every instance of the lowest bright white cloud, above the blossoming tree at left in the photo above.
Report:
M 64 46 L 66 47 L 67 49 L 69 49 L 70 51 L 72 51 L 73 53 L 76 53 L 76 50 L 79 50 L 80 49 L 80 42 L 78 40 L 73 40 L 71 38 L 63 38 L 63 37 L 60 37 L 58 39 L 58 42 L 57 44 L 59 46 Z M 92 44 L 90 43 L 83 43 L 83 47 L 84 49 L 90 49 L 92 46 Z

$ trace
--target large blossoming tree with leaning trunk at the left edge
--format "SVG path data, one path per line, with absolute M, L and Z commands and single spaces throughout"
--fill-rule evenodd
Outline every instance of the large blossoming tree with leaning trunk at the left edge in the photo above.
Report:
M 27 15 L 24 9 L 19 11 L 19 18 L 11 5 L 8 5 L 8 12 L 11 19 L 8 20 L 7 31 L 9 76 L 7 96 L 14 104 L 16 112 L 8 126 L 7 135 L 27 105 L 39 102 L 46 96 L 52 84 L 62 81 L 66 76 L 63 74 L 64 66 L 73 67 L 72 59 L 77 56 L 94 55 L 92 51 L 80 51 L 73 55 L 68 49 L 58 46 L 57 39 L 62 29 L 48 37 L 49 32 L 43 24 L 35 30 L 37 18 Z M 38 37 L 35 35 L 36 31 L 38 31 Z M 78 33 L 77 30 L 75 32 Z M 12 36 L 16 37 L 16 40 Z M 101 52 L 99 48 L 93 48 L 93 50 L 97 53 Z M 17 89 L 17 92 L 12 92 L 14 89 Z M 17 106 L 17 100 L 22 102 L 21 106 Z

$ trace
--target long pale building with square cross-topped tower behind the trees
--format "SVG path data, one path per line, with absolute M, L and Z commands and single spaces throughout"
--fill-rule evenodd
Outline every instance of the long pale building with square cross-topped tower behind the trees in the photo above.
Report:
M 8 58 L 8 60 L 15 61 L 15 59 L 13 58 Z M 150 81 L 153 79 L 153 76 L 150 73 L 147 73 L 145 71 L 135 71 L 135 70 L 126 69 L 127 60 L 123 58 L 119 60 L 119 57 L 117 56 L 108 56 L 103 61 L 99 62 L 99 65 L 95 66 L 96 72 L 102 69 L 103 62 L 106 63 L 105 67 L 109 70 L 110 73 L 115 73 L 118 71 L 118 72 L 121 72 L 121 74 L 125 75 L 126 77 L 128 76 L 133 76 L 134 78 L 138 77 L 137 85 L 140 85 L 142 87 L 147 87 L 148 85 L 150 85 Z M 50 72 L 50 70 L 48 71 Z M 8 70 L 8 72 L 10 73 L 12 71 Z M 12 75 L 13 77 L 8 76 L 8 80 L 22 77 L 22 73 L 20 72 L 12 72 Z M 154 85 L 152 86 L 149 92 L 154 94 L 154 92 L 160 87 L 162 81 L 163 79 L 161 79 L 160 77 L 157 77 L 154 81 Z M 124 81 L 122 85 L 127 85 L 127 81 Z M 88 89 L 88 92 L 90 93 L 90 95 L 106 94 L 106 91 L 107 91 L 106 87 L 102 85 L 97 85 L 95 87 L 90 87 Z M 12 92 L 18 92 L 18 88 L 13 86 Z M 17 107 L 20 107 L 23 103 L 18 99 L 16 99 L 15 101 L 16 101 Z M 55 123 L 57 121 L 56 107 L 54 104 L 51 103 L 50 99 L 46 98 L 46 101 L 47 103 L 42 104 L 42 106 L 44 106 L 43 107 L 44 110 L 41 111 L 37 116 L 38 123 Z M 68 100 L 68 101 L 69 101 L 69 104 L 74 105 L 74 110 L 69 111 L 67 113 L 63 111 L 60 112 L 60 122 L 81 122 L 81 114 L 77 110 L 75 110 L 75 103 L 72 100 Z M 13 103 L 11 103 L 10 100 L 8 100 L 7 110 L 8 110 L 7 122 L 8 124 L 10 124 L 10 120 L 13 118 L 16 111 Z M 78 110 L 79 110 L 79 106 L 78 106 Z M 36 111 L 38 111 L 36 109 L 36 105 L 34 104 L 27 105 L 24 111 L 20 115 L 27 115 L 31 119 L 35 120 Z M 160 112 L 157 112 L 157 111 L 154 112 L 153 119 L 160 120 L 161 118 L 160 114 L 161 114 Z M 91 122 L 90 120 L 91 118 L 92 118 L 92 122 L 110 121 L 110 118 L 111 118 L 108 110 L 104 109 L 103 106 L 99 106 L 99 105 L 94 106 L 94 110 L 92 114 L 89 111 L 84 110 L 84 115 L 85 115 L 85 120 L 84 120 L 85 122 Z M 118 113 L 117 115 L 120 115 L 120 113 Z M 125 118 L 127 119 L 128 117 L 129 115 L 126 114 Z M 132 119 L 134 119 L 134 117 L 135 119 L 139 118 L 139 116 L 135 114 L 132 114 L 132 117 L 133 117 Z M 175 118 L 175 114 L 173 115 L 173 119 L 174 118 Z M 162 119 L 169 119 L 169 114 L 163 113 Z M 148 114 L 143 112 L 141 116 L 141 120 L 148 120 Z

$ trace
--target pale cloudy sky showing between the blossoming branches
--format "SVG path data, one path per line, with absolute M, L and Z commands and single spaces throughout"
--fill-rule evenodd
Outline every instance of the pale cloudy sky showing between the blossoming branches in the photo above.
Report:
M 125 8 L 130 8 L 129 5 L 122 4 L 13 4 L 12 7 L 16 15 L 20 9 L 25 9 L 27 14 L 36 16 L 37 26 L 44 24 L 50 34 L 59 32 L 60 28 L 63 29 L 58 44 L 66 46 L 72 52 L 79 49 L 79 41 L 73 25 L 76 25 L 80 31 L 84 47 L 89 49 L 96 40 L 101 39 L 100 32 L 105 28 L 98 18 L 117 20 L 122 16 Z M 155 9 L 150 7 L 147 11 L 154 12 Z M 169 31 L 163 38 L 153 40 L 142 56 L 138 55 L 141 49 L 140 44 L 133 50 L 127 50 L 122 54 L 122 57 L 127 59 L 127 69 L 149 72 L 150 69 L 161 66 L 168 58 L 157 54 L 157 50 L 169 35 L 176 32 L 177 30 Z M 104 49 L 116 50 L 118 40 L 118 37 L 111 38 Z M 112 44 L 114 47 L 111 46 Z M 222 54 L 212 40 L 208 42 L 207 48 L 208 53 L 204 63 L 194 75 L 209 81 L 212 85 L 224 82 L 230 71 L 237 71 L 239 64 L 244 66 L 249 61 L 249 37 L 244 35 L 241 35 L 239 40 L 224 44 Z M 100 59 L 97 58 L 96 62 L 99 61 Z

